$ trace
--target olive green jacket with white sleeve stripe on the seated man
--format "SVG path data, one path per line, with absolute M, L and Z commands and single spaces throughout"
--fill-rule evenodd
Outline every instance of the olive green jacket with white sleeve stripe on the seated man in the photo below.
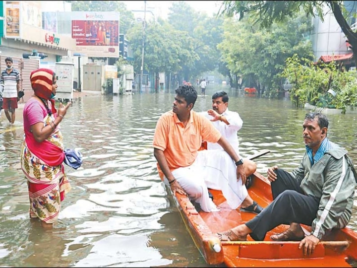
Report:
M 311 234 L 321 239 L 327 230 L 343 228 L 350 221 L 357 173 L 347 150 L 336 145 L 311 166 L 307 152 L 290 174 L 305 195 L 320 199 Z

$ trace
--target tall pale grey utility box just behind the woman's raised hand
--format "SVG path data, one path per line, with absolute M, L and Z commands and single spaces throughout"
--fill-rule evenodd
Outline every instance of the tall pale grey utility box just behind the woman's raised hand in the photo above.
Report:
M 73 75 L 74 64 L 60 62 L 56 63 L 57 93 L 58 100 L 73 100 Z

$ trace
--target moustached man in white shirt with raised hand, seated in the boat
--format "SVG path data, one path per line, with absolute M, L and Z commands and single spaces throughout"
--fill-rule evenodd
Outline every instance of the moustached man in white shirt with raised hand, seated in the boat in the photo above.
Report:
M 238 141 L 238 131 L 243 125 L 239 114 L 237 112 L 232 112 L 228 110 L 228 100 L 229 97 L 225 91 L 218 91 L 212 95 L 212 109 L 207 112 L 201 112 L 200 114 L 211 120 L 212 124 L 216 129 L 224 136 L 236 150 L 239 155 L 239 141 Z M 223 150 L 221 145 L 207 142 L 208 150 Z M 239 155 L 240 157 L 240 155 Z M 240 157 L 242 159 L 242 157 Z M 244 172 L 246 174 L 246 187 L 251 183 L 249 178 L 256 171 L 256 164 L 254 161 L 249 159 L 243 159 Z M 209 181 L 206 180 L 207 187 L 210 189 L 220 189 L 220 184 L 214 177 L 207 176 L 210 178 Z M 249 178 L 249 179 L 248 179 Z

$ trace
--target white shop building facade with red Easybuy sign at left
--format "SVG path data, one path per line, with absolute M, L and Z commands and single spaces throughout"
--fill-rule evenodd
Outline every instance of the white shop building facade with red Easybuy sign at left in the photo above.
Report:
M 38 67 L 54 69 L 62 56 L 75 49 L 75 40 L 70 36 L 43 29 L 42 2 L 1 1 L 0 68 L 4 69 L 6 57 L 13 59 L 13 66 L 20 71 L 25 101 L 32 95 L 31 71 Z M 41 58 L 38 54 L 44 56 Z

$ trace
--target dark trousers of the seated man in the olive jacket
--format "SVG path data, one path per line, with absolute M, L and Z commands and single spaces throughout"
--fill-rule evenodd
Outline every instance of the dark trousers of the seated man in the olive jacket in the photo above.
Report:
M 252 230 L 250 236 L 262 241 L 268 231 L 280 224 L 292 222 L 311 225 L 316 218 L 320 200 L 305 196 L 299 183 L 286 171 L 275 170 L 277 179 L 271 182 L 273 201 L 245 225 Z

